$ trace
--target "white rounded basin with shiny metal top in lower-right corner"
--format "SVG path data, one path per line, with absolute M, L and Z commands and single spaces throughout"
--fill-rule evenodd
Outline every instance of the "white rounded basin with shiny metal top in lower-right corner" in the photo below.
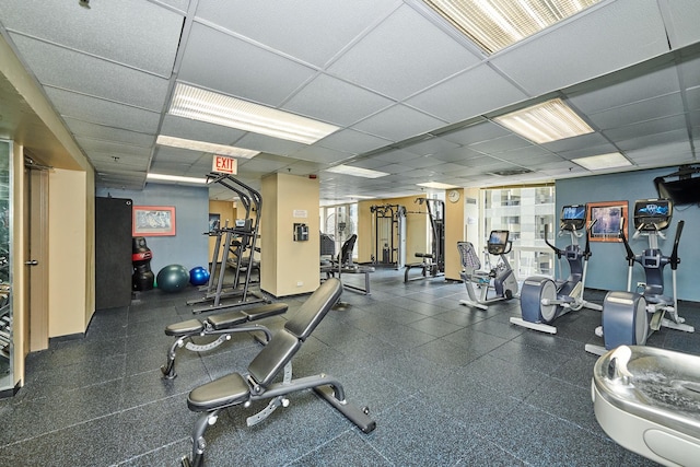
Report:
M 666 466 L 700 459 L 700 357 L 620 346 L 593 367 L 600 428 L 616 443 Z

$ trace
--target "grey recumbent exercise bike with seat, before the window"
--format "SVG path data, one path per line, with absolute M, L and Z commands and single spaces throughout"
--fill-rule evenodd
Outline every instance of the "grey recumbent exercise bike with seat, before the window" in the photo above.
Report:
M 471 242 L 457 242 L 457 250 L 462 259 L 459 276 L 467 288 L 468 300 L 460 300 L 463 305 L 480 310 L 488 310 L 491 303 L 511 300 L 517 295 L 517 280 L 508 260 L 508 254 L 513 249 L 513 242 L 509 240 L 509 231 L 491 231 L 487 243 L 489 255 L 498 256 L 499 262 L 490 270 L 481 270 L 481 261 Z M 477 296 L 476 284 L 481 293 Z M 493 289 L 494 294 L 489 295 Z

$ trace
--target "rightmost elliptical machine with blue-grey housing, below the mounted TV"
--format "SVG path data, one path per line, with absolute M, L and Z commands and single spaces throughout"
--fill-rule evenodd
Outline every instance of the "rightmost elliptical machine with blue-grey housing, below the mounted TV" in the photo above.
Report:
M 649 248 L 635 255 L 620 226 L 620 237 L 625 244 L 628 261 L 627 292 L 608 292 L 603 301 L 603 326 L 596 329 L 602 336 L 605 347 L 587 343 L 587 352 L 603 355 L 618 346 L 643 346 L 652 332 L 662 326 L 695 332 L 695 328 L 685 324 L 678 315 L 676 294 L 676 270 L 678 244 L 685 222 L 678 221 L 676 237 L 670 256 L 665 256 L 658 248 L 658 238 L 665 240 L 663 231 L 668 229 L 673 214 L 673 203 L 667 199 L 642 199 L 634 202 L 634 234 L 649 238 Z M 639 262 L 644 268 L 645 283 L 642 293 L 632 292 L 632 269 Z M 673 296 L 664 295 L 664 268 L 670 265 Z M 651 315 L 651 319 L 648 318 Z M 667 318 L 666 316 L 669 316 Z

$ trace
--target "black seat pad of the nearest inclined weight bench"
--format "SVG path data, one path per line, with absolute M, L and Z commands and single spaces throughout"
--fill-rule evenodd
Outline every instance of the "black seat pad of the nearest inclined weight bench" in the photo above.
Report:
M 245 378 L 240 373 L 231 373 L 192 389 L 187 397 L 187 407 L 195 412 L 205 412 L 245 402 L 249 396 Z

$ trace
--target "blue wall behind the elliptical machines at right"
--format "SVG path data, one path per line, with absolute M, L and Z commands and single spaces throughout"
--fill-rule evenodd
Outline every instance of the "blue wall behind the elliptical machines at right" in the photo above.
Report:
M 629 208 L 634 207 L 637 199 L 656 198 L 658 195 L 654 188 L 653 179 L 657 176 L 676 172 L 677 167 L 667 167 L 654 171 L 628 172 L 612 175 L 598 175 L 593 177 L 570 178 L 557 182 L 557 213 L 565 205 L 583 205 L 598 201 L 628 201 Z M 674 217 L 670 226 L 665 231 L 666 240 L 658 240 L 658 247 L 665 255 L 670 255 L 673 240 L 676 234 L 676 224 L 679 220 L 686 221 L 682 231 L 678 256 L 678 299 L 700 302 L 700 208 L 697 206 L 680 206 L 674 208 Z M 632 219 L 630 218 L 630 224 Z M 628 224 L 629 225 L 629 224 Z M 628 238 L 629 238 L 629 231 Z M 632 232 L 633 233 L 633 232 Z M 560 248 L 568 244 L 568 237 L 558 237 L 557 246 Z M 581 243 L 583 247 L 583 243 Z M 640 253 L 649 247 L 649 240 L 640 236 L 630 241 L 634 253 Z M 625 246 L 617 242 L 591 242 L 593 256 L 588 261 L 586 287 L 602 290 L 627 289 L 627 260 L 625 259 Z M 565 268 L 565 266 L 564 266 Z M 564 269 L 568 272 L 568 269 Z M 672 295 L 670 267 L 666 267 L 664 285 L 666 294 Z M 632 288 L 637 282 L 644 281 L 644 272 L 640 265 L 634 266 L 632 275 Z

